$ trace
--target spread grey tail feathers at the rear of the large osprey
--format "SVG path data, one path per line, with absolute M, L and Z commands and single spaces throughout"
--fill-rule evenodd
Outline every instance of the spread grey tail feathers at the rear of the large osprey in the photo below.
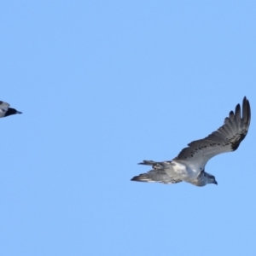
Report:
M 153 169 L 149 172 L 140 174 L 138 176 L 132 177 L 132 181 L 139 181 L 139 182 L 147 182 L 147 183 L 180 183 L 182 182 L 181 179 L 175 176 L 171 176 L 166 172 L 166 169 L 169 170 L 172 168 L 171 162 L 154 162 L 154 161 L 148 161 L 144 160 L 143 163 L 140 163 L 140 165 L 147 165 L 152 166 Z

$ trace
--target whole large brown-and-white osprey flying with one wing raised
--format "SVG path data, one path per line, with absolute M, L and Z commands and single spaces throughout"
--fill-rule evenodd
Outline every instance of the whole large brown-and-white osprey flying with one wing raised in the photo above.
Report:
M 242 113 L 240 104 L 237 104 L 235 113 L 230 111 L 230 116 L 224 119 L 224 125 L 208 137 L 189 143 L 189 147 L 183 148 L 173 160 L 143 160 L 139 165 L 152 166 L 152 170 L 132 177 L 131 180 L 166 184 L 184 181 L 199 187 L 209 183 L 218 184 L 212 174 L 205 172 L 207 161 L 217 154 L 235 151 L 247 136 L 250 120 L 250 103 L 244 97 Z

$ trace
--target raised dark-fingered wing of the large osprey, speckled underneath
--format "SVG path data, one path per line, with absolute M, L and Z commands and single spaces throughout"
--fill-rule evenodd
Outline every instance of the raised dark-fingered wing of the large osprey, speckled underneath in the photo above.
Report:
M 188 148 L 177 155 L 175 160 L 186 163 L 197 170 L 203 170 L 213 156 L 225 152 L 235 151 L 246 137 L 251 120 L 250 103 L 246 97 L 242 102 L 242 116 L 240 104 L 236 105 L 235 113 L 224 119 L 224 125 L 213 131 L 204 139 L 189 143 Z

